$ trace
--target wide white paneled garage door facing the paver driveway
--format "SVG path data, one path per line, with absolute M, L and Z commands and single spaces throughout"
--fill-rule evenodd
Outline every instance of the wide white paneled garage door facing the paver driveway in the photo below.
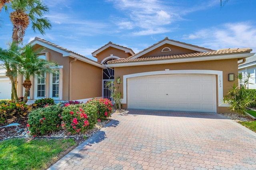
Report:
M 216 112 L 216 76 L 165 74 L 128 78 L 128 109 Z

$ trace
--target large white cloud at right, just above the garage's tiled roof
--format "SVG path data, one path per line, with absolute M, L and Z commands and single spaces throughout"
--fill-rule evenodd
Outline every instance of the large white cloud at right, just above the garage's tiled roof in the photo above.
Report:
M 209 29 L 202 29 L 183 39 L 202 39 L 203 47 L 221 48 L 252 48 L 256 50 L 256 27 L 250 23 L 226 23 Z

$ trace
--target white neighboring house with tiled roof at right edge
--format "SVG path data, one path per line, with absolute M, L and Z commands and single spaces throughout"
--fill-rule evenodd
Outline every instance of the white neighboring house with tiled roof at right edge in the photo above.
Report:
M 240 74 L 240 76 L 243 78 L 246 78 L 249 73 L 251 77 L 249 78 L 249 84 L 247 88 L 256 89 L 256 55 L 248 57 L 245 60 L 239 62 L 238 74 Z

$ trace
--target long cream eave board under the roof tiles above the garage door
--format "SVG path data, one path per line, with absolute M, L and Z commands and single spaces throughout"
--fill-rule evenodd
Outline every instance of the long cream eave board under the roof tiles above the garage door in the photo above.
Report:
M 168 59 L 168 60 L 154 60 L 154 61 L 140 61 L 131 63 L 116 63 L 107 64 L 107 67 L 122 67 L 122 66 L 140 66 L 140 65 L 152 65 L 152 64 L 169 64 L 169 63 L 185 63 L 185 62 L 195 62 L 195 61 L 210 61 L 210 60 L 222 60 L 222 59 L 236 59 L 240 57 L 251 57 L 255 53 L 242 53 L 242 54 L 231 54 L 231 55 L 214 55 L 205 57 L 192 57 L 184 59 Z

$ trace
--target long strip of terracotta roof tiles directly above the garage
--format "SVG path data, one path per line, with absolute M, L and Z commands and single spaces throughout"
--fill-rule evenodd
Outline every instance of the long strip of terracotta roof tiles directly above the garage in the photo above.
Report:
M 117 60 L 109 61 L 107 64 L 134 63 L 134 62 L 171 60 L 171 59 L 185 59 L 185 58 L 208 57 L 208 56 L 216 56 L 216 55 L 231 55 L 231 54 L 248 53 L 250 51 L 252 51 L 252 49 L 248 49 L 248 48 L 246 48 L 246 49 L 220 49 L 218 51 L 210 51 L 210 52 L 196 52 L 196 53 L 187 53 L 187 54 L 178 54 L 178 55 L 139 57 L 136 59 L 117 59 Z

